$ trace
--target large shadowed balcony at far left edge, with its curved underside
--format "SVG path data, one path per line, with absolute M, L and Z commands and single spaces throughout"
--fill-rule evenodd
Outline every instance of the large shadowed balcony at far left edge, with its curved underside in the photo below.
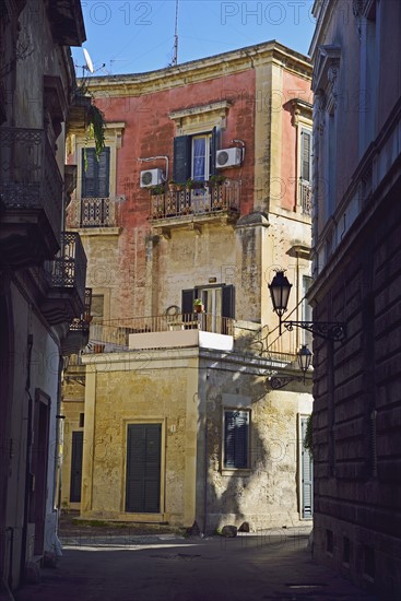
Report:
M 0 251 L 15 268 L 60 247 L 63 182 L 45 130 L 0 128 Z

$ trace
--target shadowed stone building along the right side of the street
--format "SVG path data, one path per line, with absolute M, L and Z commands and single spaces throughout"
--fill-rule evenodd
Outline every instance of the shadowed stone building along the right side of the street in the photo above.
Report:
M 401 5 L 315 3 L 315 556 L 400 590 Z

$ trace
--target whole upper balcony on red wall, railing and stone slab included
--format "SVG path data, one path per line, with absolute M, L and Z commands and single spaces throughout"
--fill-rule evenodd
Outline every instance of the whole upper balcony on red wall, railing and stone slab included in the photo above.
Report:
M 239 216 L 240 191 L 240 180 L 226 179 L 215 186 L 204 184 L 198 188 L 151 193 L 152 225 L 173 227 L 187 222 L 210 223 L 222 217 L 235 221 Z

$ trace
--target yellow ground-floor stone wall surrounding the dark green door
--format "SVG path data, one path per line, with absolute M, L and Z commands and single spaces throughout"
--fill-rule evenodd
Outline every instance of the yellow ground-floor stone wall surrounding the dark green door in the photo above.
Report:
M 86 518 L 169 521 L 194 518 L 198 357 L 192 351 L 89 357 L 84 475 Z M 95 402 L 96 400 L 96 402 Z M 127 425 L 162 424 L 161 514 L 125 511 Z

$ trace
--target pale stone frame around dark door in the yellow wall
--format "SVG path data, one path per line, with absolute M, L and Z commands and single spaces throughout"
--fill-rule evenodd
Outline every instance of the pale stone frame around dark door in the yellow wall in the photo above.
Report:
M 161 425 L 161 493 L 160 493 L 160 512 L 158 514 L 134 514 L 126 511 L 126 494 L 127 494 L 127 444 L 128 444 L 128 426 L 157 424 Z M 165 507 L 165 488 L 166 488 L 166 419 L 162 417 L 143 417 L 134 420 L 123 420 L 123 462 L 121 478 L 121 504 L 120 511 L 127 519 L 138 521 L 168 521 L 168 514 Z M 126 519 L 125 518 L 125 519 Z

